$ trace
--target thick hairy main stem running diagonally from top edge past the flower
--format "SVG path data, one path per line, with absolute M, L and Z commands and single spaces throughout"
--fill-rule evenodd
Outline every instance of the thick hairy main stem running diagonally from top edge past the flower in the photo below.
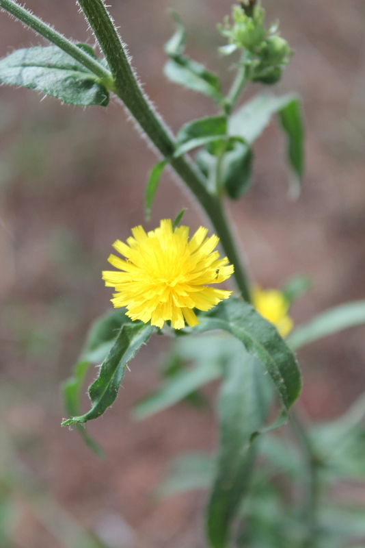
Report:
M 171 156 L 175 149 L 174 136 L 139 86 L 103 1 L 78 0 L 78 3 L 107 59 L 115 82 L 116 95 L 122 99 L 160 153 L 165 158 Z M 171 161 L 171 166 L 187 184 L 211 219 L 228 259 L 234 264 L 234 277 L 242 297 L 250 301 L 249 283 L 220 201 L 208 192 L 204 177 L 189 158 L 175 158 Z

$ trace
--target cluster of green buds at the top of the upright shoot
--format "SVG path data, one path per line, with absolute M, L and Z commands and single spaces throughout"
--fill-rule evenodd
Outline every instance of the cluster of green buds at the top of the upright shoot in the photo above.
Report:
M 245 66 L 247 79 L 263 84 L 275 84 L 282 69 L 290 62 L 293 51 L 288 42 L 280 37 L 278 23 L 265 28 L 265 10 L 259 5 L 243 3 L 232 8 L 232 23 L 227 16 L 219 28 L 228 38 L 228 45 L 221 52 L 230 55 L 237 49 L 244 52 L 241 64 Z

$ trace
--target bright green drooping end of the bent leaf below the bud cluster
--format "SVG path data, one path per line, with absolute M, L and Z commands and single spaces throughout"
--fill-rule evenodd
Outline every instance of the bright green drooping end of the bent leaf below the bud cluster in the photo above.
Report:
M 291 193 L 299 195 L 300 182 L 304 171 L 304 127 L 299 99 L 294 97 L 278 110 L 282 129 L 287 138 L 288 164 L 293 170 Z

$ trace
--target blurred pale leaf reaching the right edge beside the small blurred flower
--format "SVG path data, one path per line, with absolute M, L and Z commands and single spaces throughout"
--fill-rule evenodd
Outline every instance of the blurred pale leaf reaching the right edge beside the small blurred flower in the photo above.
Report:
M 299 325 L 288 336 L 287 342 L 291 348 L 297 350 L 314 340 L 363 323 L 365 323 L 365 301 L 353 301 L 330 308 L 308 323 Z

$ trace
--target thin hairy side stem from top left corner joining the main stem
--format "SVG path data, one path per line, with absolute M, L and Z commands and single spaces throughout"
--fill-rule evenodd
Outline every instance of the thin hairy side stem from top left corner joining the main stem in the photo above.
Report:
M 85 51 L 77 47 L 76 44 L 70 42 L 65 36 L 55 31 L 47 23 L 44 23 L 39 17 L 33 15 L 29 10 L 22 8 L 12 0 L 0 0 L 0 8 L 14 15 L 19 21 L 22 21 L 33 29 L 37 34 L 40 34 L 60 49 L 68 53 L 72 58 L 79 61 L 83 66 L 92 71 L 96 76 L 103 80 L 103 83 L 111 90 L 113 90 L 113 79 L 111 74 L 107 71 L 97 60 L 93 59 Z

